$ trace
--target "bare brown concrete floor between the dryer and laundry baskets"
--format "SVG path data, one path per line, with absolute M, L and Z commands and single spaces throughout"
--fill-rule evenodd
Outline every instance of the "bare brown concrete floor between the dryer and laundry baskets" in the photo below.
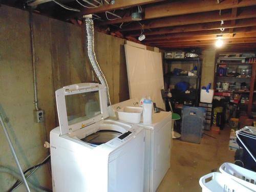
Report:
M 230 129 L 227 127 L 220 135 L 205 132 L 201 144 L 172 141 L 170 168 L 157 192 L 202 191 L 199 179 L 219 169 L 224 162 L 233 162 L 234 152 L 228 150 Z

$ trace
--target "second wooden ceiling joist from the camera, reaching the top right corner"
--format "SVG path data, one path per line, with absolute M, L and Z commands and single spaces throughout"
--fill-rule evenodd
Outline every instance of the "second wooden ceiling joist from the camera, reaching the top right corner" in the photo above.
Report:
M 167 16 L 184 15 L 191 13 L 199 13 L 206 11 L 215 11 L 223 9 L 231 9 L 238 7 L 246 7 L 256 5 L 255 0 L 240 0 L 237 3 L 234 0 L 225 0 L 217 3 L 216 0 L 185 0 L 169 3 L 161 3 L 158 5 L 149 5 L 144 8 L 143 19 L 154 19 Z M 93 11 L 93 10 L 92 10 Z M 123 17 L 121 19 L 109 20 L 102 22 L 100 25 L 118 24 L 123 22 L 132 22 L 131 16 Z

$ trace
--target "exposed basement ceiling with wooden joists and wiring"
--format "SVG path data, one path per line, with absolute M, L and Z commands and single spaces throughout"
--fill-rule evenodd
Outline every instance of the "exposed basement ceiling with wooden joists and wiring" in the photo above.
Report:
M 222 35 L 226 49 L 256 48 L 256 0 L 2 0 L 2 3 L 25 9 L 33 7 L 34 12 L 78 25 L 82 15 L 93 14 L 98 31 L 133 41 L 144 34 L 143 44 L 162 49 L 211 47 L 217 35 Z M 132 13 L 140 10 L 142 20 L 133 20 Z

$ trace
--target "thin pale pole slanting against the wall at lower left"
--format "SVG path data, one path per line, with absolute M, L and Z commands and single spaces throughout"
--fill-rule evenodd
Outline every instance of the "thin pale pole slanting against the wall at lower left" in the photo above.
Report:
M 0 113 L 0 122 L 1 122 L 2 127 L 3 127 L 3 130 L 4 130 L 4 132 L 5 132 L 5 136 L 6 136 L 6 139 L 7 139 L 7 141 L 8 141 L 8 144 L 9 144 L 9 146 L 10 146 L 10 148 L 11 148 L 11 152 L 12 152 L 13 158 L 14 158 L 16 164 L 17 164 L 17 167 L 18 167 L 20 176 L 22 176 L 22 180 L 23 180 L 23 182 L 24 182 L 24 184 L 25 184 L 25 187 L 26 187 L 27 191 L 30 192 L 30 189 L 29 189 L 27 180 L 26 180 L 26 178 L 25 178 L 25 176 L 24 176 L 24 174 L 23 174 L 22 167 L 20 167 L 20 164 L 19 164 L 19 162 L 18 162 L 18 158 L 17 158 L 16 153 L 15 153 L 15 151 L 14 151 L 12 142 L 11 142 L 10 137 L 9 137 L 9 135 L 8 135 L 8 132 L 7 132 L 7 129 L 6 129 L 6 126 L 5 126 L 5 123 L 4 123 L 4 120 L 3 120 L 3 118 L 2 118 L 1 113 Z

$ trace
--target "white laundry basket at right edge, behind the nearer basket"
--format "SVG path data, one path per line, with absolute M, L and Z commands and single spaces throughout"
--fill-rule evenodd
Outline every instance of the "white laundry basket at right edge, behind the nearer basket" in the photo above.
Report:
M 256 173 L 232 163 L 223 163 L 220 172 L 239 182 L 249 189 L 256 191 Z

